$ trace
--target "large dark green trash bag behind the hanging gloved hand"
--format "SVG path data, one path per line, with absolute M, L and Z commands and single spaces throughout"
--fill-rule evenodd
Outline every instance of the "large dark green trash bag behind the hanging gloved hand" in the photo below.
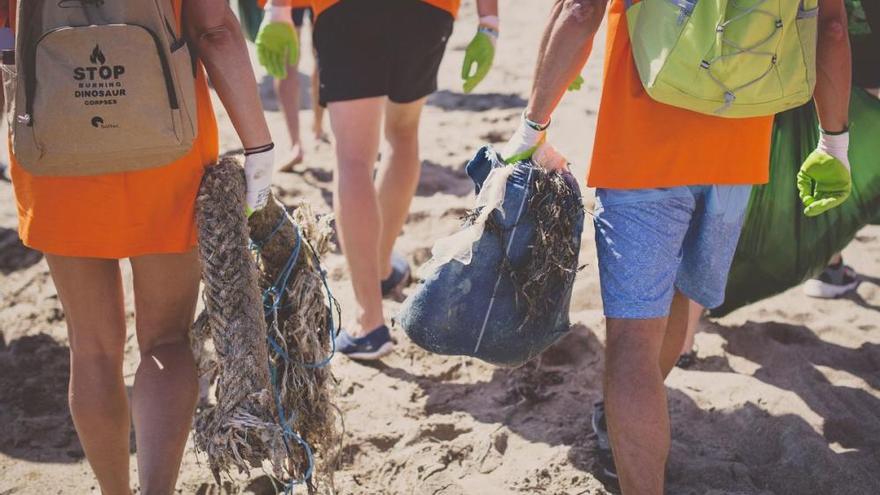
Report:
M 795 186 L 801 163 L 819 141 L 812 104 L 776 116 L 770 183 L 752 191 L 733 259 L 723 316 L 817 275 L 869 223 L 880 221 L 880 101 L 854 88 L 850 102 L 853 191 L 841 206 L 818 217 L 803 214 Z

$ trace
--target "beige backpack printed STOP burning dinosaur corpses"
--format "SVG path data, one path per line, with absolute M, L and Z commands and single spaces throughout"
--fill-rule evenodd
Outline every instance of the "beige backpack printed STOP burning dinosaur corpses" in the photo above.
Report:
M 177 25 L 171 0 L 20 0 L 4 86 L 22 167 L 83 176 L 186 154 L 198 129 L 195 65 Z

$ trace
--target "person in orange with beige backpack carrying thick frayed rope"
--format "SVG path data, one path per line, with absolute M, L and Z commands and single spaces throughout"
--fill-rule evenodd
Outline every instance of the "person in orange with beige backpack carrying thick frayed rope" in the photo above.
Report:
M 216 163 L 219 148 L 208 77 L 248 150 L 249 210 L 265 205 L 271 184 L 273 144 L 260 111 L 245 41 L 224 0 L 143 3 L 149 9 L 127 2 L 68 2 L 71 5 L 56 7 L 56 2 L 29 0 L 17 11 L 11 3 L 12 12 L 20 14 L 19 47 L 36 53 L 33 72 L 18 72 L 19 88 L 28 77 L 41 78 L 43 71 L 56 67 L 81 69 L 74 70 L 72 77 L 65 73 L 40 80 L 35 93 L 20 95 L 17 102 L 27 100 L 28 105 L 27 109 L 16 106 L 10 156 L 21 238 L 45 253 L 64 308 L 74 425 L 102 493 L 131 493 L 132 422 L 139 493 L 173 493 L 198 397 L 188 343 L 200 278 L 194 249 L 196 194 L 205 168 Z M 156 17 L 157 8 L 164 19 Z M 95 25 L 94 19 L 107 23 Z M 55 34 L 45 36 L 36 32 L 52 20 L 70 26 L 47 30 Z M 147 20 L 152 23 L 149 29 L 142 25 Z M 56 43 L 57 36 L 68 38 Z M 25 37 L 41 41 L 28 47 Z M 42 48 L 50 43 L 56 43 L 51 50 Z M 137 55 L 130 59 L 128 54 Z M 65 57 L 66 63 L 49 63 Z M 21 65 L 28 62 L 23 53 L 17 58 L 20 68 L 27 67 Z M 107 75 L 105 79 L 112 81 L 90 83 L 89 74 Z M 88 105 L 91 100 L 73 98 L 73 90 L 41 89 L 62 84 L 72 89 L 113 84 L 129 91 L 115 100 L 94 100 L 105 103 L 95 106 Z M 152 97 L 138 96 L 143 94 Z M 156 110 L 164 105 L 170 105 L 167 112 Z M 53 115 L 52 107 L 58 106 L 70 112 Z M 33 111 L 26 114 L 31 107 Z M 116 107 L 124 111 L 117 112 Z M 86 121 L 77 121 L 79 117 Z M 146 122 L 141 119 L 169 119 L 161 123 L 175 132 L 151 133 L 158 120 L 135 133 L 127 130 Z M 69 134 L 45 134 L 53 120 L 66 126 Z M 26 131 L 44 133 L 41 139 L 52 146 L 47 149 L 66 154 L 59 153 L 51 163 L 49 154 L 33 159 L 27 153 Z M 117 156 L 128 158 L 114 161 L 106 154 L 83 155 L 83 147 L 76 146 L 77 133 L 94 137 L 87 141 L 88 148 L 113 144 Z M 185 140 L 187 135 L 190 141 Z M 106 139 L 100 142 L 95 136 Z M 150 140 L 152 150 L 170 149 L 179 157 L 151 160 L 142 148 L 134 150 L 125 142 L 132 139 Z M 110 140 L 115 141 L 108 144 Z M 83 167 L 90 172 L 82 173 Z M 127 341 L 119 264 L 123 258 L 130 260 L 133 272 L 140 351 L 130 401 L 123 380 Z

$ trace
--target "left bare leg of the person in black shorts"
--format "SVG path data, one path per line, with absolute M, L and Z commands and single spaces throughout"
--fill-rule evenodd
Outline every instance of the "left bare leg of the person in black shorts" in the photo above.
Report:
M 338 160 L 333 204 L 357 302 L 355 321 L 346 328 L 353 337 L 385 323 L 379 266 L 382 219 L 373 186 L 384 104 L 385 98 L 379 97 L 328 106 Z

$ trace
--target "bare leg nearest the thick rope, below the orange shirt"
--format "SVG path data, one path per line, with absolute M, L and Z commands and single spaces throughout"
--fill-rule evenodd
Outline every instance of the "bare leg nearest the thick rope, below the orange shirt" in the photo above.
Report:
M 189 347 L 199 291 L 195 251 L 131 260 L 141 363 L 132 400 L 141 493 L 174 493 L 198 398 Z

